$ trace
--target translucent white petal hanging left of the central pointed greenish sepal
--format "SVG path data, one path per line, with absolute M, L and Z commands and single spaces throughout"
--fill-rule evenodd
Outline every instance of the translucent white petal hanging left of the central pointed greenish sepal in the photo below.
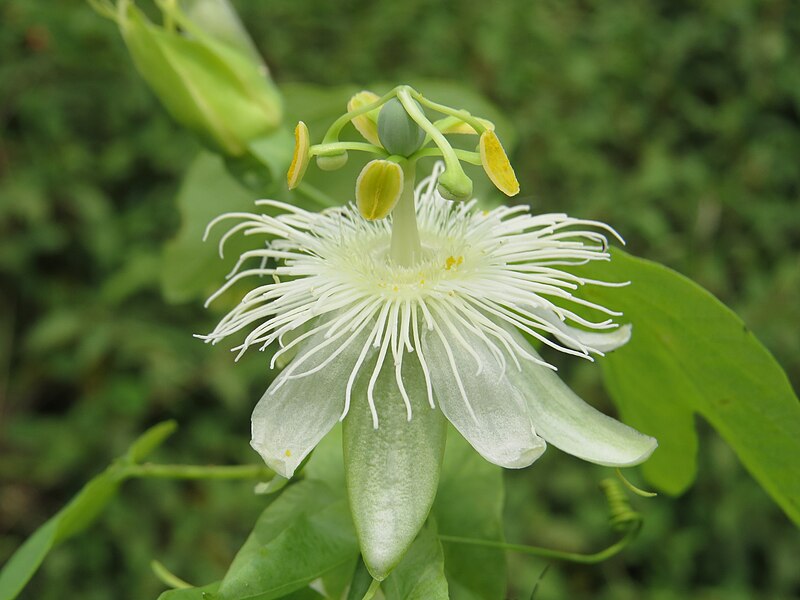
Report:
M 318 372 L 289 377 L 318 367 L 341 350 L 340 339 L 315 351 L 330 340 L 325 339 L 324 330 L 310 336 L 297 357 L 269 386 L 253 411 L 250 445 L 270 469 L 290 478 L 339 420 L 344 410 L 347 380 L 366 335 L 363 332 L 357 336 Z M 293 369 L 293 365 L 297 368 Z

